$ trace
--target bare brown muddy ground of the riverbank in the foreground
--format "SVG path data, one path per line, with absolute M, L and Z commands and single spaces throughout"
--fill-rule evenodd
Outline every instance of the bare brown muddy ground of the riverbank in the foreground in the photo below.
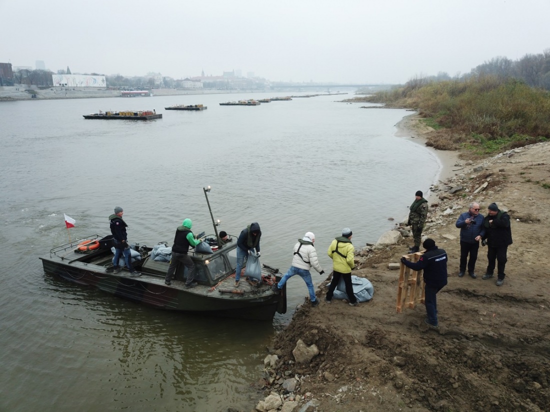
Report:
M 456 176 L 432 187 L 424 232 L 449 256 L 449 283 L 437 298 L 439 329 L 424 324 L 422 304 L 396 311 L 399 271 L 388 263 L 399 263 L 411 238 L 357 253 L 353 274 L 372 282 L 371 302 L 325 303 L 329 278 L 317 291 L 321 304 L 300 307 L 273 344 L 280 358 L 274 373 L 301 378 L 300 407 L 316 399 L 308 411 L 550 411 L 550 143 L 459 162 Z M 485 190 L 472 194 L 484 182 Z M 463 190 L 445 192 L 459 185 Z M 477 279 L 457 276 L 455 221 L 472 201 L 483 215 L 496 202 L 511 216 L 514 243 L 502 287 L 496 276 L 481 279 L 482 247 Z M 321 351 L 310 364 L 293 362 L 298 339 Z

